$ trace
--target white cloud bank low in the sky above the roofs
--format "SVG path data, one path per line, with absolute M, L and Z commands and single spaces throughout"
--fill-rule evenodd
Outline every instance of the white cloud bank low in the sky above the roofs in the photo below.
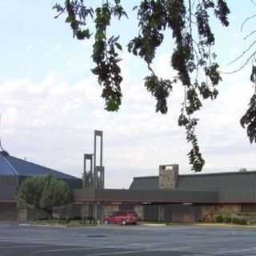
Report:
M 132 65 L 131 62 L 134 64 Z M 189 172 L 185 130 L 177 125 L 182 86 L 175 85 L 166 115 L 154 113 L 154 98 L 142 86 L 140 62 L 122 63 L 123 104 L 118 113 L 104 110 L 101 87 L 94 77 L 70 83 L 50 73 L 41 82 L 19 79 L 2 82 L 0 112 L 4 145 L 10 154 L 79 176 L 82 154 L 93 150 L 93 130 L 104 131 L 106 186 L 129 186 L 132 177 L 158 174 L 158 165 L 177 162 Z M 169 58 L 160 56 L 156 68 L 169 75 Z M 239 118 L 250 99 L 247 72 L 224 76 L 219 98 L 205 102 L 196 114 L 198 137 L 206 170 L 254 167 L 250 146 Z M 225 170 L 226 170 L 225 169 Z

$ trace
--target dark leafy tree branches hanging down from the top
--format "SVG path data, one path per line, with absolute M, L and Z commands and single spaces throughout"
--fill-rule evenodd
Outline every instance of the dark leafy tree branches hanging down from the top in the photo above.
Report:
M 91 38 L 93 33 L 89 25 L 94 23 L 92 58 L 95 66 L 92 72 L 102 86 L 106 110 L 116 111 L 122 103 L 122 73 L 119 66 L 122 45 L 119 35 L 108 37 L 107 30 L 114 18 L 120 20 L 128 18 L 128 15 L 121 0 L 103 0 L 102 5 L 96 8 L 88 6 L 88 2 L 90 4 L 90 1 L 84 0 L 63 0 L 62 4 L 54 6 L 58 13 L 55 18 L 64 14 L 74 38 L 78 40 Z M 205 161 L 195 134 L 198 118 L 194 118 L 194 112 L 202 108 L 203 100 L 218 97 L 217 87 L 222 81 L 217 54 L 212 51 L 216 37 L 210 19 L 215 17 L 222 26 L 229 26 L 230 9 L 225 0 L 141 0 L 133 10 L 137 11 L 138 35 L 128 42 L 127 50 L 146 62 L 149 74 L 146 75 L 144 86 L 156 99 L 156 112 L 167 113 L 166 102 L 173 84 L 182 83 L 184 97 L 178 126 L 185 127 L 186 139 L 192 146 L 188 153 L 191 169 L 201 171 Z M 155 52 L 166 33 L 171 33 L 174 39 L 174 49 L 170 50 L 170 66 L 178 72 L 178 76 L 170 79 L 159 78 L 152 68 Z M 255 55 L 252 54 L 250 59 Z M 255 84 L 254 66 L 250 80 Z M 256 93 L 241 124 L 247 128 L 250 142 L 256 142 Z

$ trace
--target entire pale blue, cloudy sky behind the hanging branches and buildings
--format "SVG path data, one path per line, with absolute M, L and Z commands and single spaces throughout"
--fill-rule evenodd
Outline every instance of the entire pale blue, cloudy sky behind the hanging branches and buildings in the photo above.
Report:
M 63 2 L 63 0 L 58 0 Z M 94 4 L 102 1 L 88 1 Z M 131 10 L 139 1 L 122 1 Z M 195 114 L 200 119 L 198 139 L 206 165 L 204 173 L 256 170 L 255 147 L 239 124 L 253 86 L 250 66 L 234 74 L 242 62 L 228 65 L 250 45 L 243 40 L 253 30 L 250 0 L 230 2 L 230 27 L 213 20 L 214 50 L 222 70 L 220 94 L 204 102 Z M 52 0 L 0 0 L 0 136 L 10 154 L 55 170 L 81 177 L 83 154 L 93 152 L 94 130 L 103 130 L 103 165 L 106 187 L 127 188 L 134 176 L 157 175 L 160 164 L 178 163 L 181 174 L 191 173 L 186 154 L 190 144 L 177 120 L 182 86 L 177 84 L 168 100 L 169 112 L 156 114 L 154 98 L 143 86 L 149 74 L 139 58 L 122 53 L 122 107 L 118 113 L 104 110 L 101 87 L 91 74 L 91 42 L 72 38 L 68 24 L 54 19 Z M 136 15 L 122 24 L 113 23 L 124 45 L 137 33 Z M 154 70 L 171 78 L 170 36 L 154 60 Z

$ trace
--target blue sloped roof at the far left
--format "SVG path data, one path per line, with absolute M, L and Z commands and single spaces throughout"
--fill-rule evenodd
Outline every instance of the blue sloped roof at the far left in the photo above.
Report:
M 39 166 L 33 162 L 15 158 L 6 152 L 0 152 L 0 175 L 46 176 L 48 174 L 55 178 L 79 179 L 45 166 Z

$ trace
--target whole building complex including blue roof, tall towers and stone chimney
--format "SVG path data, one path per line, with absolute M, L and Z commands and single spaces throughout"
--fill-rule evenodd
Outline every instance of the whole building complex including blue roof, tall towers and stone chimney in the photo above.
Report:
M 0 220 L 17 219 L 16 193 L 22 180 L 51 174 L 73 189 L 73 205 L 58 209 L 57 218 L 102 221 L 112 211 L 135 210 L 147 221 L 212 222 L 223 216 L 256 222 L 256 171 L 179 174 L 178 164 L 162 165 L 158 176 L 136 177 L 128 190 L 110 190 L 104 184 L 102 138 L 102 131 L 94 131 L 94 154 L 84 154 L 83 180 L 0 151 Z

